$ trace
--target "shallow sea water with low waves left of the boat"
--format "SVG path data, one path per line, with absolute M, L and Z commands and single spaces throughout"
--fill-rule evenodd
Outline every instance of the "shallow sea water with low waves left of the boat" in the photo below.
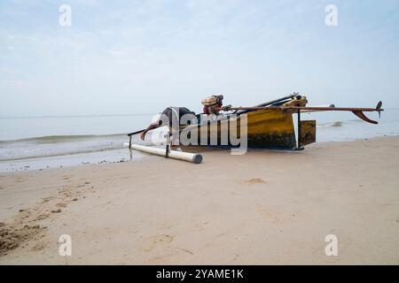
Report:
M 154 115 L 0 118 L 0 172 L 137 160 L 127 133 Z M 147 144 L 133 137 L 133 142 Z

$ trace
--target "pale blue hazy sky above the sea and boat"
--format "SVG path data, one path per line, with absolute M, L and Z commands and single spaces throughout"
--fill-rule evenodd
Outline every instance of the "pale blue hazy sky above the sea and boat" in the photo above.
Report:
M 0 117 L 198 112 L 213 94 L 251 106 L 293 92 L 399 107 L 399 0 L 0 2 Z

